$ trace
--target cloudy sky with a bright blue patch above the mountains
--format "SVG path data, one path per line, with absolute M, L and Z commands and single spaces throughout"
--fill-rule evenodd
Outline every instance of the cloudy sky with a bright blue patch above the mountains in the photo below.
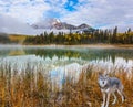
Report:
M 133 0 L 0 0 L 0 15 L 29 24 L 57 18 L 74 25 L 132 29 Z

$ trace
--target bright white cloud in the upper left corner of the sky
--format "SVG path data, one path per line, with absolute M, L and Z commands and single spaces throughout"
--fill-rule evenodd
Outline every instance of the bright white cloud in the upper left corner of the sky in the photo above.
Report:
M 0 6 L 2 6 L 0 7 L 1 13 L 29 23 L 33 23 L 39 19 L 42 19 L 44 11 L 50 9 L 50 6 L 43 0 L 12 0 L 4 3 L 0 2 Z

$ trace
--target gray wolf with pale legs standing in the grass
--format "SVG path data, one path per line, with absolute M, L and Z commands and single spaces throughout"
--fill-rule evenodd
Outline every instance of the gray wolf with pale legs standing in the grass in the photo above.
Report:
M 112 104 L 114 105 L 116 103 L 115 92 L 120 94 L 122 103 L 125 100 L 123 85 L 119 78 L 99 74 L 98 83 L 103 95 L 103 103 L 101 107 L 109 107 L 111 94 L 114 96 L 114 100 Z

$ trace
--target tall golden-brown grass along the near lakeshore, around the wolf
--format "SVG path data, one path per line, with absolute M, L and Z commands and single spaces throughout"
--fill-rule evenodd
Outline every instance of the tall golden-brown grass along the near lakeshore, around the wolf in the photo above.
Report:
M 102 94 L 98 86 L 98 74 L 104 72 L 90 65 L 82 71 L 78 81 L 66 78 L 61 88 L 53 84 L 44 71 L 37 72 L 27 66 L 25 71 L 12 71 L 10 65 L 0 66 L 0 107 L 100 107 Z M 133 107 L 133 69 L 123 67 L 109 73 L 119 77 L 124 85 L 126 100 L 121 97 L 115 107 Z M 111 97 L 111 100 L 113 97 Z M 111 104 L 111 103 L 110 103 Z M 114 107 L 114 105 L 110 105 Z

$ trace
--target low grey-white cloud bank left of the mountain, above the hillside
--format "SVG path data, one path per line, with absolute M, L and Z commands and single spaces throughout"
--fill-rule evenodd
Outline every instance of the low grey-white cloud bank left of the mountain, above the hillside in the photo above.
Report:
M 33 34 L 34 31 L 28 24 L 18 21 L 9 15 L 0 14 L 0 32 L 18 33 L 18 34 Z

